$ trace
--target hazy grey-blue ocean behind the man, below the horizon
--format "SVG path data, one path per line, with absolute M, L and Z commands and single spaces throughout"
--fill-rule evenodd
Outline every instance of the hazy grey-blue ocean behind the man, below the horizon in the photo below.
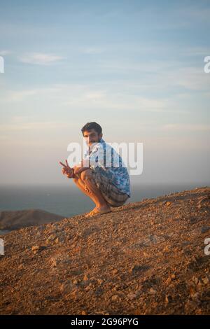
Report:
M 131 186 L 132 197 L 128 202 L 137 202 L 146 198 L 155 198 L 182 190 L 191 190 L 200 186 L 195 184 L 139 184 Z M 71 217 L 94 208 L 94 203 L 76 186 L 1 186 L 0 211 L 42 209 Z M 3 234 L 0 231 L 0 234 Z

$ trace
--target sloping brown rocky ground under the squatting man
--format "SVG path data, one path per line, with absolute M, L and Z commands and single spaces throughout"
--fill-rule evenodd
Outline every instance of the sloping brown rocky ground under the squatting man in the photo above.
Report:
M 209 187 L 1 238 L 1 314 L 210 314 Z

